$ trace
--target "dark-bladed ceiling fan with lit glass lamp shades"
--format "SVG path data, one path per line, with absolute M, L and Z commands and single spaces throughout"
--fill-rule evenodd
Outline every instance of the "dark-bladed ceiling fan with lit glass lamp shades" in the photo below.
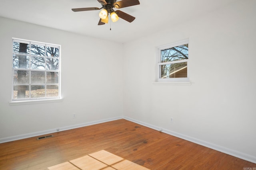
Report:
M 101 10 L 100 11 L 100 21 L 98 25 L 104 25 L 105 23 L 108 23 L 108 14 L 110 14 L 110 18 L 113 22 L 116 22 L 119 18 L 122 18 L 123 20 L 126 20 L 128 22 L 132 22 L 135 20 L 135 17 L 130 16 L 129 14 L 126 14 L 125 12 L 122 12 L 120 10 L 114 11 L 113 8 L 124 8 L 128 6 L 134 6 L 139 5 L 139 0 L 120 0 L 116 2 L 116 0 L 98 0 L 100 4 L 102 5 L 101 8 L 92 7 L 92 8 L 72 8 L 72 11 L 74 12 L 80 12 L 80 11 L 92 11 L 92 10 Z

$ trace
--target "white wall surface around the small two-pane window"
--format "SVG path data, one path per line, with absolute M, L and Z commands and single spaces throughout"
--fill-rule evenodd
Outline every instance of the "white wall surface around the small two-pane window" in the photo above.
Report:
M 255 7 L 241 0 L 126 43 L 124 115 L 256 162 Z M 186 38 L 191 86 L 153 85 L 156 47 Z

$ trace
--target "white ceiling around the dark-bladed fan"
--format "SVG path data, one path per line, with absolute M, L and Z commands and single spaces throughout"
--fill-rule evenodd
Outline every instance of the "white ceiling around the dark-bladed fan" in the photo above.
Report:
M 0 0 L 0 16 L 125 43 L 235 1 L 238 0 L 140 0 L 140 5 L 119 9 L 136 19 L 129 23 L 120 18 L 111 23 L 111 31 L 110 23 L 98 25 L 100 10 L 71 11 L 71 8 L 101 8 L 97 0 Z

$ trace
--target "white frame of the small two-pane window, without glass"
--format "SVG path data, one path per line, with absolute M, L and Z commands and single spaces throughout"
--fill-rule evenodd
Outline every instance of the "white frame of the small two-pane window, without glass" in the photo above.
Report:
M 165 62 L 165 63 L 161 63 L 161 50 L 164 49 L 170 49 L 172 47 L 177 47 L 180 45 L 184 45 L 184 44 L 189 44 L 189 40 L 188 39 L 184 39 L 181 41 L 176 41 L 174 43 L 170 43 L 167 45 L 162 45 L 157 47 L 157 75 L 156 75 L 156 82 L 163 82 L 163 84 L 166 83 L 174 83 L 174 84 L 179 84 L 184 82 L 184 84 L 190 84 L 190 80 L 189 80 L 189 58 L 188 59 L 184 59 L 184 60 L 179 60 L 179 61 L 171 61 L 171 62 Z M 166 65 L 166 64 L 174 64 L 174 63 L 184 63 L 187 62 L 187 77 L 186 78 L 160 78 L 161 76 L 161 65 Z M 182 84 L 182 85 L 184 85 Z

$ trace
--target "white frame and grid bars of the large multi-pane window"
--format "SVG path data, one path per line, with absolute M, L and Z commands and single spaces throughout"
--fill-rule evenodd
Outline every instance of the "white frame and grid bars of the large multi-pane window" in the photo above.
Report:
M 35 69 L 24 69 L 24 68 L 14 68 L 13 67 L 13 55 L 14 55 L 14 51 L 13 51 L 13 42 L 14 41 L 18 41 L 20 43 L 29 43 L 29 45 L 31 46 L 31 44 L 38 44 L 38 45 L 44 45 L 45 48 L 46 47 L 57 47 L 59 49 L 59 56 L 58 57 L 47 57 L 46 56 L 46 51 L 45 51 L 45 56 L 35 56 L 35 57 L 45 57 L 45 59 L 47 58 L 57 58 L 58 61 L 58 70 L 47 70 L 46 69 L 46 65 L 45 65 L 45 69 L 44 70 L 35 70 Z M 22 54 L 19 54 L 22 55 Z M 29 54 L 27 54 L 27 56 L 29 56 L 30 60 L 31 57 L 33 57 L 34 55 L 31 55 L 31 50 L 29 52 Z M 32 40 L 27 40 L 27 39 L 19 39 L 19 38 L 12 38 L 12 100 L 10 102 L 10 105 L 19 105 L 19 104 L 34 104 L 35 102 L 38 103 L 48 103 L 48 102 L 60 102 L 62 101 L 61 99 L 61 71 L 60 71 L 60 59 L 61 59 L 61 45 L 57 45 L 57 44 L 52 44 L 52 43 L 43 43 L 43 42 L 38 42 L 38 41 L 32 41 Z M 45 60 L 46 62 L 47 60 Z M 46 64 L 46 63 L 45 63 Z M 45 74 L 47 72 L 58 72 L 58 84 L 54 83 L 54 84 L 49 84 L 45 81 L 44 85 L 45 85 L 45 93 L 46 93 L 46 86 L 47 85 L 58 85 L 58 96 L 57 97 L 42 97 L 42 98 L 31 98 L 29 96 L 29 98 L 22 98 L 22 99 L 14 99 L 14 71 L 15 70 L 24 70 L 24 71 L 39 71 L 39 72 L 44 72 Z M 29 92 L 31 91 L 30 86 L 31 86 L 31 74 L 29 74 L 29 83 L 26 85 L 29 85 Z M 46 79 L 46 76 L 45 76 Z

